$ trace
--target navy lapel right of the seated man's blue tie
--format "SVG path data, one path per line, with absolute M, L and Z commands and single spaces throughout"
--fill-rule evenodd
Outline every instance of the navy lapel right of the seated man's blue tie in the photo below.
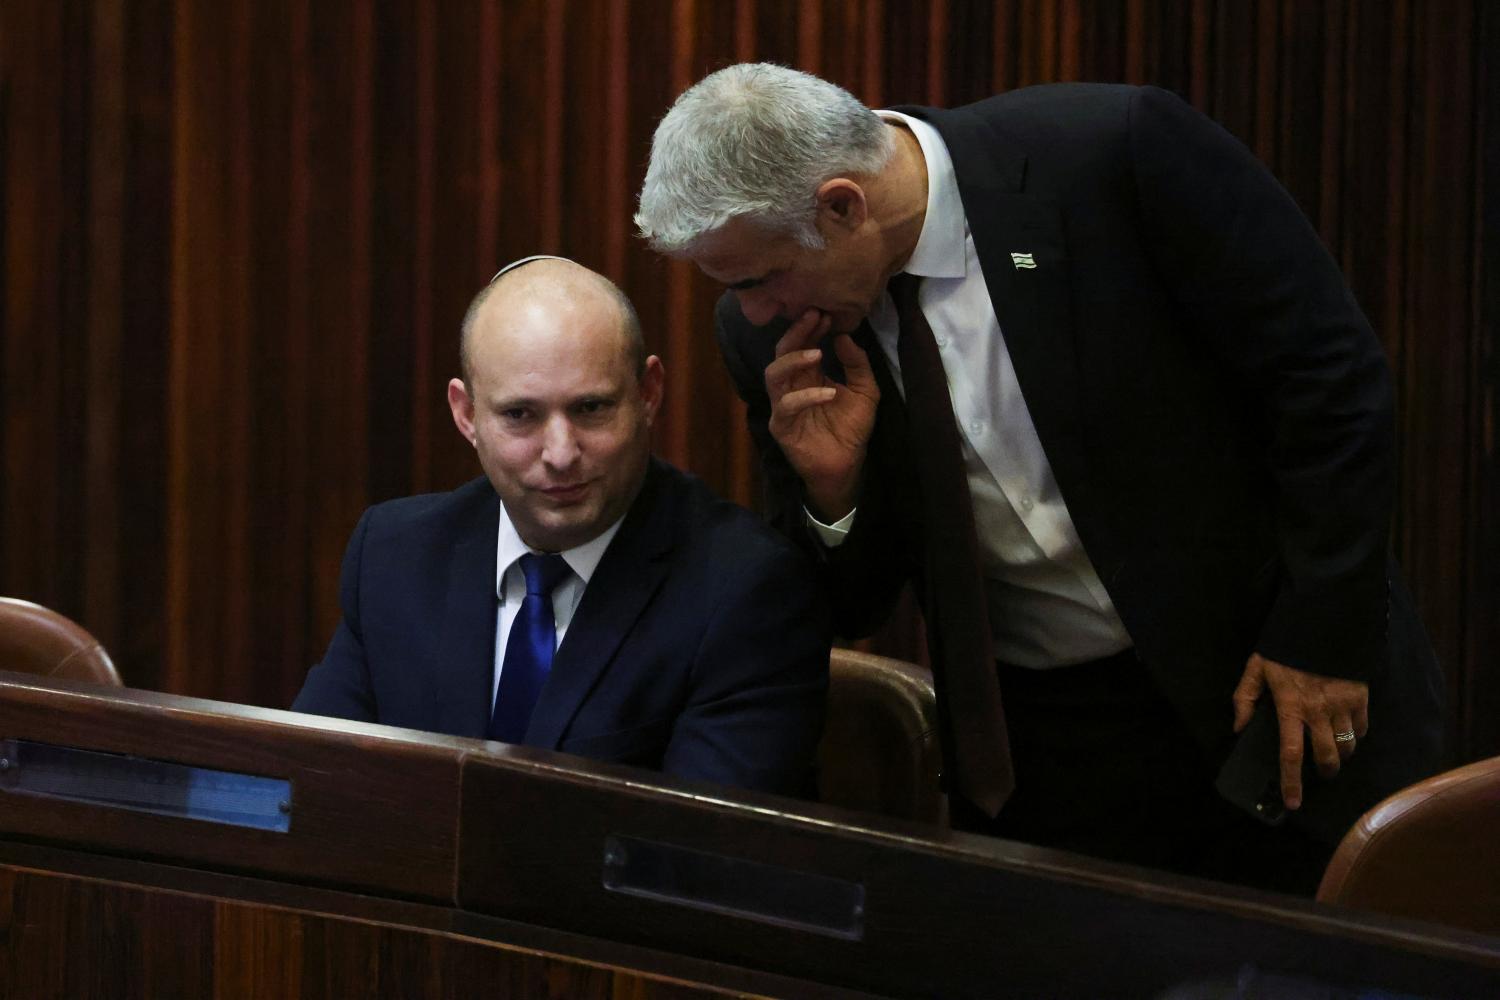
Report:
M 666 577 L 675 511 L 664 480 L 666 472 L 652 459 L 646 481 L 594 570 L 552 660 L 552 673 L 526 729 L 526 745 L 556 748 Z

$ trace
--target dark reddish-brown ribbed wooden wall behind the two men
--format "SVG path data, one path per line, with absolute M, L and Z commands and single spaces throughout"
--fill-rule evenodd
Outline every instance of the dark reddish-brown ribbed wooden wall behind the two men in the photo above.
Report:
M 630 211 L 722 64 L 870 103 L 1155 82 L 1244 138 L 1338 255 L 1400 397 L 1398 552 L 1461 756 L 1500 753 L 1500 238 L 1482 0 L 8 0 L 0 592 L 142 687 L 285 705 L 370 501 L 471 451 L 442 384 L 498 264 L 574 256 L 668 369 L 657 445 L 754 495 L 716 289 Z

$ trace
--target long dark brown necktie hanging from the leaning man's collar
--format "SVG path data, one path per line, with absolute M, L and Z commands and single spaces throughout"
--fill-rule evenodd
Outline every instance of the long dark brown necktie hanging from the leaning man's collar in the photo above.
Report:
M 891 279 L 902 321 L 897 358 L 906 388 L 912 465 L 921 484 L 927 648 L 952 729 L 954 787 L 988 816 L 1016 789 L 994 672 L 980 543 L 963 444 L 938 342 L 916 304 L 915 274 Z

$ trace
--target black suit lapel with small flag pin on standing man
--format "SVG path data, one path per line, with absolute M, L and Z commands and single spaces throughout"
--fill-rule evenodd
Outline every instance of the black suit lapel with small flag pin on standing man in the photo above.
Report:
M 1064 495 L 1082 475 L 1078 363 L 1070 261 L 1058 205 L 1028 187 L 1022 136 L 972 111 L 903 109 L 928 121 L 952 156 L 969 231 L 1036 436 Z M 1022 255 L 1017 259 L 1012 255 Z M 1026 264 L 1035 267 L 1026 267 Z

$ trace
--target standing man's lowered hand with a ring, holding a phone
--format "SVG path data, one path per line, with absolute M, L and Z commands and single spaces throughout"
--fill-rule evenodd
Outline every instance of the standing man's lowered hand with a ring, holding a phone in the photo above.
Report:
M 1234 687 L 1236 733 L 1250 721 L 1266 688 L 1281 729 L 1281 801 L 1294 810 L 1302 805 L 1305 745 L 1311 745 L 1320 775 L 1336 775 L 1370 729 L 1370 685 L 1308 673 L 1251 654 Z

